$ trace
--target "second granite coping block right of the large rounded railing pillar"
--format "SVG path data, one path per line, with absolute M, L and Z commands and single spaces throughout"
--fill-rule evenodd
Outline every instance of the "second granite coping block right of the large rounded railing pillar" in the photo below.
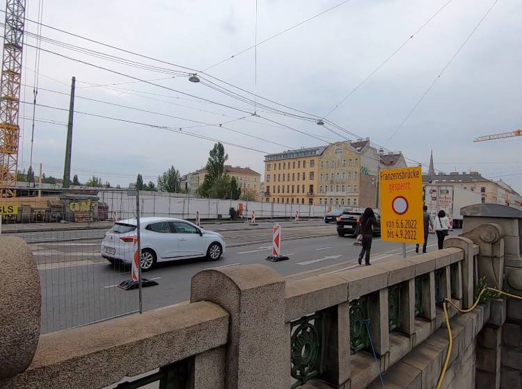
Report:
M 377 266 L 356 267 L 335 275 L 347 281 L 350 300 L 388 288 L 388 271 Z

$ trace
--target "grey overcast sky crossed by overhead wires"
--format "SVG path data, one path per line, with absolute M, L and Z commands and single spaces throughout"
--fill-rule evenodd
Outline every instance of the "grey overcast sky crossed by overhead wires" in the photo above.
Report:
M 258 0 L 258 42 L 340 2 Z M 29 19 L 37 19 L 38 3 L 27 3 Z M 209 69 L 208 73 L 245 90 L 257 92 L 262 97 L 324 116 L 445 3 L 448 0 L 351 0 L 258 45 L 257 83 L 254 50 L 237 55 Z M 389 149 L 401 150 L 406 158 L 422 163 L 429 163 L 429 153 L 433 149 L 435 167 L 439 171 L 463 172 L 471 169 L 496 179 L 503 176 L 505 182 L 522 192 L 522 137 L 473 143 L 473 138 L 478 135 L 522 127 L 522 2 L 519 0 L 500 0 L 496 3 L 425 99 L 390 139 L 492 4 L 493 1 L 485 0 L 450 1 L 422 31 L 334 110 L 328 119 L 362 137 L 370 137 L 372 141 Z M 42 20 L 50 26 L 169 63 L 205 69 L 252 46 L 255 42 L 255 19 L 255 0 L 54 0 L 45 1 Z M 35 24 L 27 22 L 26 30 L 35 33 Z M 42 35 L 149 65 L 187 71 L 48 28 L 43 28 Z M 27 39 L 28 44 L 35 44 L 33 38 Z M 42 49 L 148 80 L 168 76 L 112 63 L 47 42 L 42 42 Z M 24 49 L 24 62 L 24 83 L 31 86 L 24 89 L 22 99 L 32 101 L 35 49 Z M 146 83 L 114 85 L 112 89 L 93 87 L 88 83 L 125 83 L 132 80 L 42 51 L 38 103 L 65 110 L 37 107 L 37 118 L 67 122 L 68 96 L 47 92 L 42 88 L 68 93 L 71 76 L 77 78 L 79 97 L 212 124 L 248 115 L 240 110 L 198 101 Z M 155 83 L 242 108 L 248 113 L 253 112 L 252 104 L 232 99 L 203 83 L 190 83 L 186 77 Z M 129 93 L 114 87 L 141 92 Z M 273 103 L 264 103 L 276 107 Z M 22 104 L 22 107 L 21 116 L 31 117 L 32 106 Z M 278 108 L 290 111 L 280 106 Z M 79 98 L 76 99 L 75 109 L 173 128 L 197 125 L 183 119 Z M 285 146 L 299 148 L 321 144 L 313 137 L 269 126 L 267 124 L 274 123 L 264 118 L 315 134 L 319 138 L 340 139 L 338 135 L 313 122 L 263 113 L 262 108 L 258 110 L 262 117 L 248 120 L 260 124 L 237 120 L 226 126 L 281 145 L 216 126 L 198 127 L 189 131 L 259 150 L 226 146 L 229 164 L 250 166 L 261 173 L 264 152 L 283 151 Z M 28 163 L 31 120 L 21 119 L 21 124 L 24 135 L 21 156 L 23 154 L 24 163 Z M 61 177 L 65 138 L 66 128 L 63 124 L 36 122 L 33 165 L 43 163 L 47 175 Z M 212 145 L 213 142 L 208 140 L 171 131 L 77 113 L 74 117 L 72 172 L 77 173 L 82 181 L 95 174 L 113 185 L 127 185 L 135 180 L 137 173 L 143 174 L 145 181 L 155 181 L 157 174 L 170 165 L 180 169 L 182 174 L 202 167 Z M 24 165 L 25 168 L 27 166 Z

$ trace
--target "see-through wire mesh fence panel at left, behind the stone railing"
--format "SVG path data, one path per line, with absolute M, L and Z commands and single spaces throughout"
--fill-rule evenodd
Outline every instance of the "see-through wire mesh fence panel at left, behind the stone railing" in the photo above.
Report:
M 111 265 L 100 243 L 113 226 L 109 208 L 122 218 L 136 215 L 136 197 L 123 190 L 17 190 L 17 206 L 3 215 L 2 234 L 29 243 L 40 274 L 42 333 L 89 324 L 139 310 L 137 290 L 118 284 L 130 268 Z

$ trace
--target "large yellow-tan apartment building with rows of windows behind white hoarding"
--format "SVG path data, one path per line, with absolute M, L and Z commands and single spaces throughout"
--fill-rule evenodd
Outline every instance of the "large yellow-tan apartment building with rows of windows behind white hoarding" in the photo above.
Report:
M 264 201 L 374 207 L 379 169 L 393 167 L 406 167 L 404 156 L 379 153 L 369 138 L 269 154 Z

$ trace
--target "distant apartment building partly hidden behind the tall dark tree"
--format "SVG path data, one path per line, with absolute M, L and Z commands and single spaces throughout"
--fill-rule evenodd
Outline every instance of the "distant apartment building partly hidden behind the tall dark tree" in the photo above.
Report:
M 230 177 L 235 178 L 239 186 L 241 187 L 242 193 L 248 192 L 251 195 L 255 194 L 255 200 L 260 200 L 259 190 L 261 188 L 261 174 L 255 172 L 250 167 L 241 166 L 230 166 L 225 165 L 225 173 Z M 196 172 L 187 174 L 187 184 L 189 192 L 196 193 L 203 182 L 205 181 L 205 175 L 207 169 L 198 169 Z

